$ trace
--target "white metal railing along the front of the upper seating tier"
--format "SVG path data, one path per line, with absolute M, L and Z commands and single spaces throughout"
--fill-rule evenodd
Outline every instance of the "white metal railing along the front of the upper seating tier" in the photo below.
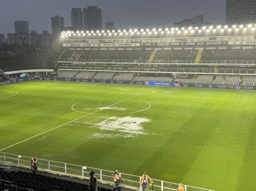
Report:
M 256 65 L 256 60 L 143 60 L 143 59 L 68 59 L 58 58 L 58 62 L 76 63 L 148 63 L 148 64 L 241 64 Z

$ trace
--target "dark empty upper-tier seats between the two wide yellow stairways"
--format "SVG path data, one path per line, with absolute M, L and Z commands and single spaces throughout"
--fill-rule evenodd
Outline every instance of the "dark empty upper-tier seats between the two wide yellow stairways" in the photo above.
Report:
M 197 50 L 158 50 L 154 60 L 194 60 Z

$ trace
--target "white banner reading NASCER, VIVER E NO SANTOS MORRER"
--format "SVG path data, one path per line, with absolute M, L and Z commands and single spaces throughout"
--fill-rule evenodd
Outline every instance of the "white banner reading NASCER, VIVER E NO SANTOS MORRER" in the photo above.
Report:
M 70 47 L 87 47 L 87 46 L 140 46 L 140 43 L 72 43 L 72 44 L 63 44 L 63 46 L 70 46 Z

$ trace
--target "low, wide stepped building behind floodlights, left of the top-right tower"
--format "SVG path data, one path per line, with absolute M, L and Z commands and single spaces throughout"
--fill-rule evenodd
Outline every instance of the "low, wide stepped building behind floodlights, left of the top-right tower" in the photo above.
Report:
M 175 22 L 173 27 L 202 27 L 207 25 L 212 25 L 212 22 L 204 21 L 204 15 L 195 15 L 190 19 L 185 19 L 183 21 Z

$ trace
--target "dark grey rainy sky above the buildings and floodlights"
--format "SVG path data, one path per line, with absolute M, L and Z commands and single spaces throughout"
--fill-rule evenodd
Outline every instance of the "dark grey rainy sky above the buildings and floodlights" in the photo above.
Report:
M 170 27 L 174 22 L 203 14 L 209 22 L 225 22 L 226 0 L 0 0 L 0 33 L 14 33 L 14 21 L 29 22 L 29 30 L 52 33 L 51 16 L 64 17 L 71 26 L 71 8 L 97 6 L 102 10 L 102 29 Z M 6 35 L 7 37 L 7 35 Z

